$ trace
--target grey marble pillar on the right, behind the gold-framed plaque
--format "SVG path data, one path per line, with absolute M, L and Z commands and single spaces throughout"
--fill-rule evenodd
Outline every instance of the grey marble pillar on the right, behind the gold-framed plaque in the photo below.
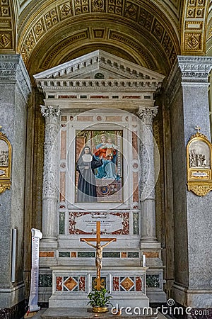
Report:
M 187 190 L 186 146 L 196 125 L 211 138 L 208 74 L 212 57 L 178 56 L 166 88 L 172 123 L 175 284 L 173 297 L 184 306 L 211 308 L 211 196 Z

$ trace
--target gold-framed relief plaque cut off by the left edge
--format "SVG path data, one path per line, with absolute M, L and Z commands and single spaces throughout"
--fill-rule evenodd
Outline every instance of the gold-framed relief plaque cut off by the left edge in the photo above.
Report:
M 0 194 L 11 187 L 11 152 L 11 143 L 0 126 Z

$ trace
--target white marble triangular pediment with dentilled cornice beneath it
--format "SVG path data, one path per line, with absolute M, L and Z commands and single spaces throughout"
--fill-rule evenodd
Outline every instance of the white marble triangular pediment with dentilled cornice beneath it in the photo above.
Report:
M 102 73 L 101 73 L 102 72 Z M 95 78 L 99 74 L 100 78 Z M 80 79 L 77 78 L 80 76 Z M 34 75 L 43 91 L 142 91 L 159 89 L 162 74 L 136 65 L 102 50 L 52 67 Z

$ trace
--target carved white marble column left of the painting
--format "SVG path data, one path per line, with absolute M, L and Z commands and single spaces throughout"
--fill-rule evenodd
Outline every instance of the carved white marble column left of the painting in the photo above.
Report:
M 57 201 L 58 201 L 58 132 L 59 106 L 41 106 L 45 117 L 45 150 L 42 189 L 42 242 L 57 240 Z

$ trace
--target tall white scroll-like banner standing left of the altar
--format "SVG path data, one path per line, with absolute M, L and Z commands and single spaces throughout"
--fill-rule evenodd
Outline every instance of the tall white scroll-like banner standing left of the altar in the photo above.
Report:
M 29 298 L 29 310 L 33 312 L 40 310 L 37 306 L 38 301 L 38 281 L 39 281 L 39 243 L 42 238 L 40 230 L 32 228 L 32 269 L 31 269 L 31 286 Z

